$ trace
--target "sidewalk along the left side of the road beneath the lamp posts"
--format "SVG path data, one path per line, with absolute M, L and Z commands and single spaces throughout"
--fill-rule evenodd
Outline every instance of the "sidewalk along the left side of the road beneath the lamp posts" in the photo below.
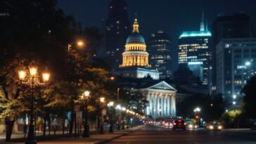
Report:
M 79 138 L 74 137 L 68 137 L 68 138 L 58 138 L 53 140 L 44 140 L 44 141 L 37 141 L 38 144 L 102 144 L 107 143 L 115 138 L 120 138 L 121 136 L 125 136 L 129 133 L 132 133 L 134 131 L 137 131 L 139 129 L 143 129 L 144 126 L 135 126 L 132 129 L 125 129 L 121 131 L 114 131 L 114 133 L 108 133 L 108 131 L 105 131 L 105 134 L 95 134 L 91 135 L 90 138 L 82 138 L 81 136 Z M 4 143 L 11 143 L 11 144 L 24 144 L 24 142 L 3 142 Z M 1 142 L 2 144 L 2 142 Z

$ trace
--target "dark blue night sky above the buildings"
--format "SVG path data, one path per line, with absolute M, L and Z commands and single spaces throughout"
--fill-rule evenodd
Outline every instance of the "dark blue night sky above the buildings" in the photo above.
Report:
M 84 27 L 103 29 L 102 20 L 108 16 L 109 0 L 59 0 L 58 7 L 73 15 Z M 177 39 L 182 31 L 199 30 L 202 12 L 209 29 L 217 15 L 247 13 L 256 20 L 256 0 L 126 0 L 129 18 L 137 13 L 140 32 L 146 40 L 151 32 L 165 30 L 171 37 L 173 67 L 177 67 Z

